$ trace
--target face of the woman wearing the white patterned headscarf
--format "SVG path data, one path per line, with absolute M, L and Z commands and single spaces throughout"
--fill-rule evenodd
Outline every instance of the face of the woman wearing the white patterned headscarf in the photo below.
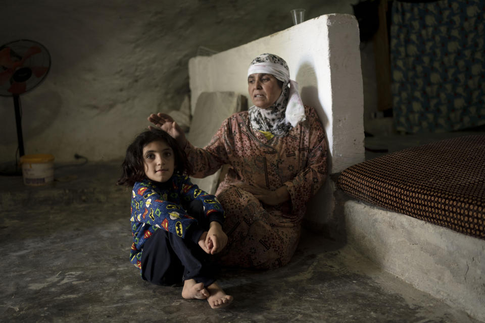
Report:
M 256 73 L 248 76 L 248 92 L 254 105 L 267 109 L 281 95 L 281 87 L 273 75 Z

